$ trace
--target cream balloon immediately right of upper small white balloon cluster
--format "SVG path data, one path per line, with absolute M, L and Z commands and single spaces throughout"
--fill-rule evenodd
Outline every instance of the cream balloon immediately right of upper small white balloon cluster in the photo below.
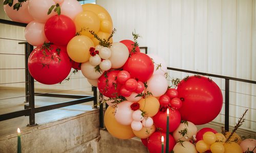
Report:
M 109 60 L 112 63 L 112 68 L 122 67 L 129 58 L 128 48 L 121 42 L 113 42 L 111 49 L 111 57 Z

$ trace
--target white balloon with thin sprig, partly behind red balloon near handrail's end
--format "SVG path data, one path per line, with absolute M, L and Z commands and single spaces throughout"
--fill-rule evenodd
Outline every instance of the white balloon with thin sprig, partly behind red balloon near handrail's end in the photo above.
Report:
M 147 54 L 150 58 L 154 61 L 154 73 L 153 74 L 161 74 L 164 75 L 167 72 L 167 65 L 163 58 L 154 55 L 154 54 Z M 161 66 L 160 66 L 161 64 Z

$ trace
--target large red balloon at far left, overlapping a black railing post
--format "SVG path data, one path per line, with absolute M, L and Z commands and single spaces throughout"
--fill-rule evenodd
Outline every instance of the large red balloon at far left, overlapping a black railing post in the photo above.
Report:
M 47 85 L 63 81 L 71 70 L 66 47 L 50 45 L 50 50 L 36 47 L 29 56 L 28 69 L 32 77 Z

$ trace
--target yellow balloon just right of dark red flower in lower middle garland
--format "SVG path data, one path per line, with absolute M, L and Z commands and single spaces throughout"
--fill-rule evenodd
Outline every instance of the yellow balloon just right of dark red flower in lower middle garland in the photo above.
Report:
M 148 117 L 155 116 L 160 107 L 160 103 L 156 97 L 149 96 L 146 98 L 142 98 L 138 102 L 140 104 L 140 110 L 146 112 Z

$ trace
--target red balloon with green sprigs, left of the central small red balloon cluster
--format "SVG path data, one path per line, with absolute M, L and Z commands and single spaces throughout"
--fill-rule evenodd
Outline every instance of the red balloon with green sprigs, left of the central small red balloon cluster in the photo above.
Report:
M 114 98 L 119 96 L 121 85 L 117 83 L 117 74 L 119 70 L 105 71 L 98 79 L 99 92 L 106 97 Z

